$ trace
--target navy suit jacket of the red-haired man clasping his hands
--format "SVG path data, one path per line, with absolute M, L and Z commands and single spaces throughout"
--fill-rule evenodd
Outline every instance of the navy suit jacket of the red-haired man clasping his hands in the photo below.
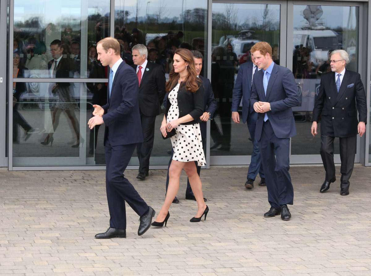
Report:
M 257 101 L 269 102 L 271 111 L 267 112 L 273 131 L 278 138 L 289 138 L 296 135 L 292 107 L 299 104 L 298 88 L 292 72 L 274 64 L 270 75 L 267 93 L 264 93 L 263 70 L 254 74 L 251 90 L 250 107 Z M 258 113 L 255 139 L 260 140 L 265 113 Z

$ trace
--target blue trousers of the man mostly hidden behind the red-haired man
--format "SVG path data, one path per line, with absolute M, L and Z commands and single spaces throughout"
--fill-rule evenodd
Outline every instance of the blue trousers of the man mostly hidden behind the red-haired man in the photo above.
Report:
M 247 116 L 247 127 L 249 128 L 251 141 L 253 141 L 253 152 L 251 154 L 251 162 L 249 170 L 247 171 L 247 178 L 255 180 L 257 173 L 259 172 L 260 178 L 265 178 L 262 157 L 260 156 L 259 146 L 255 139 L 255 128 L 256 128 L 257 113 L 252 112 Z

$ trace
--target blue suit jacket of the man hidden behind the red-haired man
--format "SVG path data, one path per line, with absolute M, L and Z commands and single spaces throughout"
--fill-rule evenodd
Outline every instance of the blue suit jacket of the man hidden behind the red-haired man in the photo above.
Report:
M 242 122 L 246 123 L 249 116 L 250 96 L 251 96 L 251 83 L 253 75 L 254 64 L 252 61 L 243 63 L 238 70 L 236 82 L 233 87 L 232 95 L 232 112 L 238 111 L 238 107 L 242 98 Z M 250 109 L 254 111 L 253 108 Z

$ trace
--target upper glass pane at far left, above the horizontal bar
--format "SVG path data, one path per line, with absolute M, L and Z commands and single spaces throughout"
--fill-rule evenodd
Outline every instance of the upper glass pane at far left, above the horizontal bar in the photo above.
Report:
M 13 53 L 29 69 L 17 77 L 53 78 L 53 60 L 60 56 L 68 63 L 56 77 L 89 77 L 94 46 L 109 36 L 109 6 L 109 0 L 14 0 Z

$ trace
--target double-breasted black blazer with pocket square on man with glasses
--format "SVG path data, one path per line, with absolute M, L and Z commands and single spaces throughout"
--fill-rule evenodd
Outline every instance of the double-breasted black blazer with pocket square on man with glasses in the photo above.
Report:
M 366 94 L 361 75 L 345 69 L 339 93 L 335 72 L 322 74 L 319 93 L 313 108 L 313 121 L 321 116 L 321 134 L 351 137 L 358 133 L 358 120 L 367 122 Z

